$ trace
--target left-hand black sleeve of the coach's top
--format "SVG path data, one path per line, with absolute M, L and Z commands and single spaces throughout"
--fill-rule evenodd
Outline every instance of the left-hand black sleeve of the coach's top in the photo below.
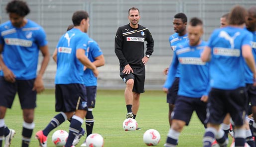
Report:
M 123 45 L 124 45 L 123 33 L 121 30 L 121 27 L 119 27 L 117 30 L 116 38 L 115 38 L 115 53 L 119 59 L 120 64 L 122 64 L 123 66 L 126 66 L 128 64 L 128 61 L 122 51 Z

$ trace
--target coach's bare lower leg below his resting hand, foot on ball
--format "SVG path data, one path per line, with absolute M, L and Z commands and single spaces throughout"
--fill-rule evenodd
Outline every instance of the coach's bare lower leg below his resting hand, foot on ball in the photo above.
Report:
M 134 84 L 134 80 L 133 79 L 129 79 L 126 82 L 125 99 L 126 99 L 126 104 L 127 105 L 128 104 L 132 104 L 132 99 L 133 99 L 132 88 L 133 88 L 133 84 Z M 132 105 L 132 107 L 133 107 L 133 105 Z M 132 112 L 133 112 L 133 110 L 132 110 Z

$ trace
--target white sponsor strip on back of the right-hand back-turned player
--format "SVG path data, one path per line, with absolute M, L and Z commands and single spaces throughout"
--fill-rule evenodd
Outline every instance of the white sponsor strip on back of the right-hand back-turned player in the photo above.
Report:
M 223 55 L 223 56 L 240 56 L 241 51 L 240 49 L 227 49 L 227 48 L 214 48 L 213 49 L 214 55 Z

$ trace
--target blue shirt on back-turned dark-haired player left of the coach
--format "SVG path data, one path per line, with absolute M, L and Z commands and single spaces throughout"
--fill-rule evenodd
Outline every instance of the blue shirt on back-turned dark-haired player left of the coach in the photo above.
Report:
M 87 49 L 89 37 L 79 29 L 67 31 L 57 45 L 55 84 L 84 84 L 84 65 L 77 59 L 77 49 Z

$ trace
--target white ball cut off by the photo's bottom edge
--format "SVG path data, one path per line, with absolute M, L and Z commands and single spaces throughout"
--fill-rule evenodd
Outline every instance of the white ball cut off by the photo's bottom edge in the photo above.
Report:
M 93 133 L 90 134 L 85 141 L 87 147 L 103 147 L 104 140 L 100 134 Z

